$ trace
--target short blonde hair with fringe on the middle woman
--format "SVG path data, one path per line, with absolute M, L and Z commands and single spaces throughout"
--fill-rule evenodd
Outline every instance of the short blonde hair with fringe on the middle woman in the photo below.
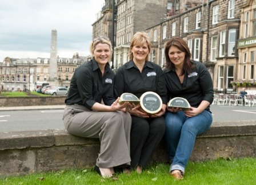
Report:
M 138 31 L 138 32 L 136 32 L 136 34 L 133 35 L 133 38 L 131 38 L 130 49 L 129 49 L 130 60 L 133 60 L 133 52 L 131 52 L 131 49 L 134 46 L 142 46 L 145 43 L 147 44 L 147 48 L 149 48 L 149 54 L 150 54 L 151 42 L 149 40 L 149 36 L 147 36 L 147 33 L 143 32 L 143 31 Z M 149 60 L 149 54 L 146 56 L 146 61 Z

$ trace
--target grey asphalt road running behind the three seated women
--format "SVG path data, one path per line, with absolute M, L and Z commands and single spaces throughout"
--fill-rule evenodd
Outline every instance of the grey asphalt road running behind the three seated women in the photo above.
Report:
M 213 122 L 256 120 L 256 107 L 211 105 Z M 0 112 L 0 131 L 64 129 L 63 109 Z

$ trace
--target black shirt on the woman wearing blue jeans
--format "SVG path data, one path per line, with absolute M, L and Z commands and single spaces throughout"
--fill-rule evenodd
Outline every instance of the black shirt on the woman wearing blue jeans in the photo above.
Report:
M 201 101 L 213 102 L 213 80 L 205 65 L 199 61 L 193 61 L 193 71 L 184 76 L 183 83 L 173 69 L 164 69 L 169 100 L 174 97 L 183 97 L 190 105 L 197 108 Z M 206 109 L 209 110 L 210 106 Z

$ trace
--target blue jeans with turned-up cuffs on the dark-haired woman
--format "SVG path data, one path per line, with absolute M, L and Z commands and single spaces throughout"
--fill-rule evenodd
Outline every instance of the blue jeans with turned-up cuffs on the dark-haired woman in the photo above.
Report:
M 180 170 L 184 174 L 195 138 L 210 128 L 213 116 L 207 110 L 194 117 L 186 117 L 183 111 L 166 112 L 165 122 L 168 159 L 172 161 L 170 172 Z

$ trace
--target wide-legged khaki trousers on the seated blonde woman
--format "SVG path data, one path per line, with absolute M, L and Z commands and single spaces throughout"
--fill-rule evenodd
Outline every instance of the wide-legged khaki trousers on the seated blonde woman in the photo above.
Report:
M 83 105 L 67 105 L 62 118 L 66 130 L 73 135 L 99 138 L 101 149 L 96 165 L 110 168 L 130 165 L 129 113 L 91 111 Z

